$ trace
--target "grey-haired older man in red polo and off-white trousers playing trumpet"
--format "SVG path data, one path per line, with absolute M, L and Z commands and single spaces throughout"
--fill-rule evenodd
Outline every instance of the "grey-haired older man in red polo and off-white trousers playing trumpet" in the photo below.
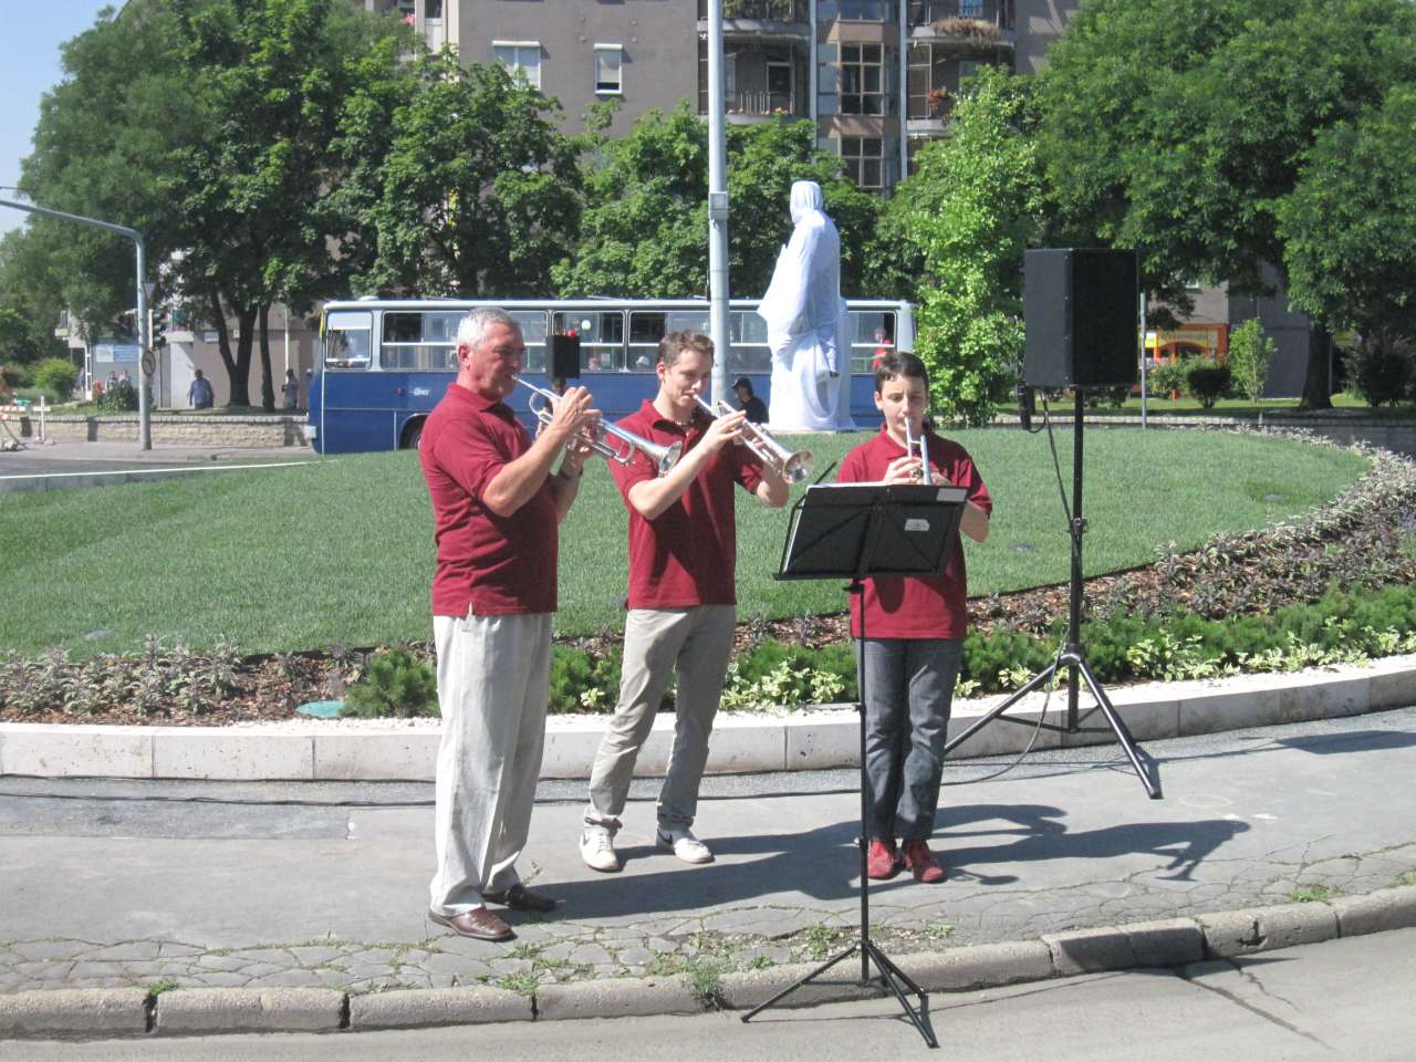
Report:
M 503 401 L 524 355 L 521 329 L 506 310 L 469 313 L 457 329 L 457 379 L 419 443 L 438 542 L 432 600 L 443 716 L 429 918 L 479 940 L 513 936 L 484 901 L 521 910 L 556 903 L 525 888 L 515 862 L 541 773 L 556 525 L 579 489 L 582 428 L 599 416 L 589 392 L 571 388 L 532 442 Z

